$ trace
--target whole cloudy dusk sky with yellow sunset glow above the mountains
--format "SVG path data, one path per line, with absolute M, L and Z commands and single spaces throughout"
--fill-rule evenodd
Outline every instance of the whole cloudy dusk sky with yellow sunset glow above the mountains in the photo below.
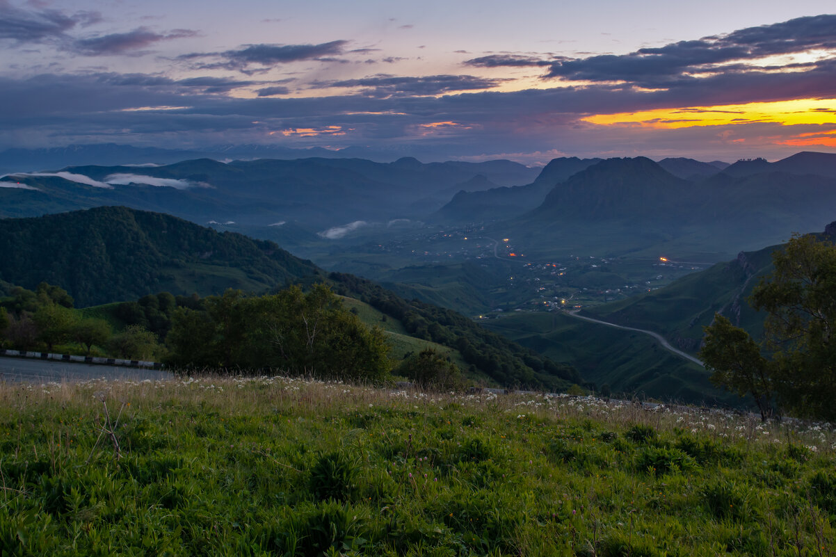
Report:
M 836 152 L 833 8 L 0 0 L 0 150 L 357 146 L 527 164 Z

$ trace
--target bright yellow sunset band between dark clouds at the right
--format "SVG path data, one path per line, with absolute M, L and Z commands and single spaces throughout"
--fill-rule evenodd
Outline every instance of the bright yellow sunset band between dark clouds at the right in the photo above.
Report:
M 686 128 L 698 125 L 736 125 L 771 122 L 782 125 L 836 124 L 836 99 L 797 99 L 744 105 L 691 106 L 592 115 L 590 124 Z

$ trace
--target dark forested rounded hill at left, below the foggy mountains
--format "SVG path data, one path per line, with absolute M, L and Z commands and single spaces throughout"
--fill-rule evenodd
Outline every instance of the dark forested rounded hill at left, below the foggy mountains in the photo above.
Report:
M 28 289 L 43 280 L 58 284 L 82 307 L 161 290 L 263 291 L 317 273 L 275 243 L 126 207 L 2 219 L 0 253 L 4 280 Z

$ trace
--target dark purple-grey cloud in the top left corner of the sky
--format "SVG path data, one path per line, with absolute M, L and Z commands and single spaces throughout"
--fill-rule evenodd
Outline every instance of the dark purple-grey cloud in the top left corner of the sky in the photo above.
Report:
M 28 11 L 13 7 L 8 0 L 0 0 L 0 39 L 40 43 L 61 38 L 76 25 L 95 23 L 100 18 L 96 12 L 67 15 L 59 10 Z

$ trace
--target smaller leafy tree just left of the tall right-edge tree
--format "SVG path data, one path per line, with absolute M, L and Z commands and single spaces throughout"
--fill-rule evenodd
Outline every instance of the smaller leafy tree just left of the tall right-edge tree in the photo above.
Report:
M 761 411 L 761 419 L 772 416 L 772 378 L 770 365 L 761 348 L 749 334 L 721 314 L 705 328 L 705 344 L 700 358 L 711 370 L 711 382 L 725 386 L 738 396 L 751 394 Z

